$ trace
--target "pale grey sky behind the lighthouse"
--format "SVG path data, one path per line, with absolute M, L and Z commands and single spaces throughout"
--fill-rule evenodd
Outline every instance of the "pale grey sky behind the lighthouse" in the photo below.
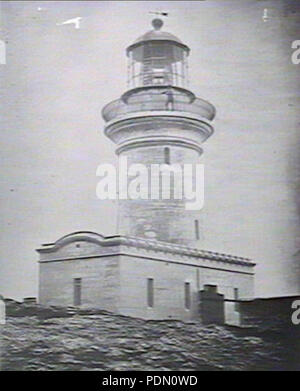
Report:
M 203 144 L 199 248 L 256 263 L 258 297 L 299 294 L 300 39 L 295 0 L 2 1 L 0 293 L 36 296 L 42 243 L 116 233 L 96 168 L 116 164 L 101 109 L 126 90 L 125 49 L 166 11 L 191 48 L 190 89 L 217 109 Z M 263 20 L 264 10 L 268 18 Z M 82 17 L 79 29 L 61 22 Z

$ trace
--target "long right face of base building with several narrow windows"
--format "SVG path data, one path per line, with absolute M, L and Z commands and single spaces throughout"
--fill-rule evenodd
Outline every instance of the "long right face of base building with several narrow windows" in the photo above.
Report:
M 194 265 L 122 256 L 120 263 L 120 313 L 145 319 L 199 319 L 199 290 L 206 284 L 218 286 L 225 298 L 253 297 L 253 275 L 235 271 L 204 269 Z M 147 279 L 154 280 L 154 306 L 147 305 Z M 184 284 L 190 283 L 191 308 L 185 308 Z M 231 304 L 231 303 L 230 303 Z M 226 308 L 225 320 L 233 307 Z

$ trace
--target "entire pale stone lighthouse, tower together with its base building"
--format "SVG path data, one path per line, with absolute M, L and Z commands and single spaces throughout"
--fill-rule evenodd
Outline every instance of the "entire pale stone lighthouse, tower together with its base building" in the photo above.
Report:
M 187 87 L 190 49 L 163 32 L 161 20 L 152 25 L 127 48 L 129 89 L 102 112 L 119 158 L 143 164 L 149 177 L 153 164 L 197 164 L 215 116 L 214 106 Z M 174 174 L 170 188 L 180 181 Z M 199 249 L 199 210 L 187 210 L 185 193 L 178 199 L 162 193 L 123 198 L 118 235 L 75 232 L 37 250 L 39 302 L 191 320 L 205 313 L 208 297 L 216 302 L 222 296 L 226 304 L 218 319 L 238 324 L 234 300 L 253 297 L 254 263 Z

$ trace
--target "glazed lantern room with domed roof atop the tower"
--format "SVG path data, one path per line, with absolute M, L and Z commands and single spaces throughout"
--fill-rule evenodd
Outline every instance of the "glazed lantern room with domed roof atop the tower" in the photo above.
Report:
M 127 48 L 128 88 L 187 87 L 190 49 L 173 34 L 161 31 L 162 20 L 154 19 L 152 26 Z

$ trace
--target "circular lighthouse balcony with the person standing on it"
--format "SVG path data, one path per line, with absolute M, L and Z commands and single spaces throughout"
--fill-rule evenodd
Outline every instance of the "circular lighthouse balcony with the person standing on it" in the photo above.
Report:
M 114 100 L 103 108 L 102 116 L 106 122 L 126 117 L 128 114 L 151 111 L 190 113 L 209 121 L 213 120 L 216 114 L 211 103 L 196 98 L 184 89 L 152 87 L 131 91 L 132 93 L 125 93 L 121 99 Z

